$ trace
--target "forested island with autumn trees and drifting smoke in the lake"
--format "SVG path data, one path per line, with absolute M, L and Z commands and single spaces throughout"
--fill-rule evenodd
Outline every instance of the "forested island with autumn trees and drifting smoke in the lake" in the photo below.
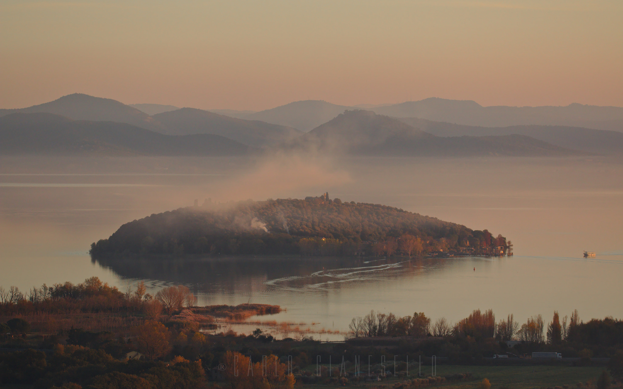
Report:
M 328 197 L 328 195 L 327 195 Z M 485 231 L 379 204 L 277 199 L 206 202 L 122 225 L 93 243 L 97 256 L 407 255 L 455 246 L 495 245 Z M 408 242 L 408 243 L 407 243 Z

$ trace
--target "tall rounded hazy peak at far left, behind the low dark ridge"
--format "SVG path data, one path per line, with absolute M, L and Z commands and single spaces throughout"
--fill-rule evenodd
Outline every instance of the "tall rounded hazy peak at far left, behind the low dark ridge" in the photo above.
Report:
M 0 110 L 0 116 L 9 113 L 54 113 L 55 115 L 66 116 L 73 120 L 90 121 L 117 121 L 119 123 L 129 123 L 153 131 L 159 131 L 161 126 L 156 123 L 149 115 L 131 106 L 120 103 L 110 98 L 94 97 L 83 93 L 62 96 L 54 101 L 28 108 L 16 110 Z

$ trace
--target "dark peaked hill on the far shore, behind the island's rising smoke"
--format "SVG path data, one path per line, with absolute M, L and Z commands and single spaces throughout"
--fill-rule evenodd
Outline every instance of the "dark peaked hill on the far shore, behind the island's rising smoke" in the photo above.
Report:
M 582 152 L 561 148 L 525 135 L 456 136 L 444 138 L 406 123 L 352 110 L 321 124 L 286 149 L 368 156 L 571 156 Z

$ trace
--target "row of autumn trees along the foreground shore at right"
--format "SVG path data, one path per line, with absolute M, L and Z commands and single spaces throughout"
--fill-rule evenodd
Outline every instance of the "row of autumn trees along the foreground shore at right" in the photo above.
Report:
M 558 311 L 554 311 L 549 324 L 539 314 L 528 317 L 521 325 L 512 314 L 496 322 L 491 309 L 482 312 L 475 309 L 454 325 L 445 317 L 432 322 L 424 312 L 397 317 L 392 313 L 371 311 L 366 316 L 353 318 L 346 339 L 356 343 L 365 340 L 361 338 L 378 337 L 431 337 L 430 354 L 455 359 L 506 352 L 521 355 L 541 350 L 584 359 L 591 356 L 614 357 L 617 354 L 623 357 L 623 321 L 606 317 L 585 323 L 579 320 L 577 309 L 571 312 L 571 316 L 562 318 Z M 511 347 L 506 344 L 508 341 L 518 344 Z

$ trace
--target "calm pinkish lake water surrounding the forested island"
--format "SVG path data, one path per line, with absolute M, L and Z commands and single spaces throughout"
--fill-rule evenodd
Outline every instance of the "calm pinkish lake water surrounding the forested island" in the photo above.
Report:
M 101 159 L 0 164 L 0 285 L 98 276 L 152 293 L 186 284 L 200 304 L 278 304 L 268 319 L 346 330 L 371 309 L 452 322 L 578 309 L 623 317 L 623 164 L 607 159 Z M 103 167 L 102 167 L 103 166 Z M 69 174 L 67 173 L 69 172 Z M 502 233 L 510 258 L 206 258 L 93 262 L 121 224 L 204 198 L 301 198 L 326 190 Z M 584 250 L 597 251 L 583 258 Z M 475 270 L 474 270 L 475 268 Z M 315 335 L 335 339 L 337 335 Z

